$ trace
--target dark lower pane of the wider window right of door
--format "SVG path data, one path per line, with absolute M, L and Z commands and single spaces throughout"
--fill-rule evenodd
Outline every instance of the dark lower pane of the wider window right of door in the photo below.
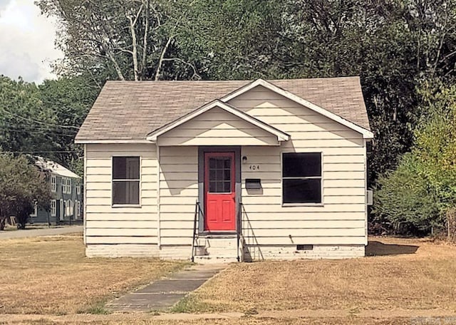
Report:
M 321 180 L 284 180 L 284 203 L 321 203 Z

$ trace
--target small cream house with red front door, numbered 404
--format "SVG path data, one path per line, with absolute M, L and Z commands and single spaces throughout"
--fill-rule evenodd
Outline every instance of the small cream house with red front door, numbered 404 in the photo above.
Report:
M 364 256 L 360 80 L 108 81 L 85 148 L 88 257 Z

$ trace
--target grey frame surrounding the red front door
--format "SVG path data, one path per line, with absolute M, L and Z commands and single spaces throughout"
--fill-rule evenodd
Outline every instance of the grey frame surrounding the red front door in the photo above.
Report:
M 239 222 L 239 203 L 241 201 L 241 147 L 239 145 L 231 146 L 199 146 L 198 148 L 198 202 L 199 208 L 202 211 L 202 216 L 205 215 L 205 202 L 204 202 L 204 153 L 234 153 L 234 190 L 235 190 L 235 217 L 236 217 L 236 232 L 241 232 L 241 223 Z M 198 218 L 198 231 L 199 233 L 209 233 L 204 231 L 204 219 Z M 223 234 L 233 232 L 210 232 L 211 234 Z

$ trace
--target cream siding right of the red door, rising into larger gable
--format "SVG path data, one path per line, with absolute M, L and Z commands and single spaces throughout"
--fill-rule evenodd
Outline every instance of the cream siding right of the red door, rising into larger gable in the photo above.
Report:
M 247 244 L 366 244 L 362 135 L 262 87 L 229 103 L 291 135 L 279 148 L 242 147 Z M 322 153 L 321 206 L 282 206 L 281 154 L 293 152 Z M 247 190 L 246 178 L 260 178 L 261 193 Z

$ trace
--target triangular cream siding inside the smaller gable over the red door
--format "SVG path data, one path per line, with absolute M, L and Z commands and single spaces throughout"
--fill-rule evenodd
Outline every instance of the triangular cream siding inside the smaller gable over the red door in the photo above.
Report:
M 204 123 L 202 128 L 200 123 Z M 202 113 L 160 135 L 159 146 L 171 145 L 278 145 L 277 138 L 221 108 Z

